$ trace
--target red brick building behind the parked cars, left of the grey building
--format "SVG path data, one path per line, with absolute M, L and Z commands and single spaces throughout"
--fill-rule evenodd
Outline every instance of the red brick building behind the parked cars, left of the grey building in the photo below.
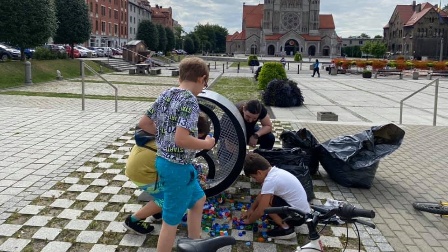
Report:
M 128 38 L 127 0 L 86 0 L 92 21 L 87 46 L 123 46 Z

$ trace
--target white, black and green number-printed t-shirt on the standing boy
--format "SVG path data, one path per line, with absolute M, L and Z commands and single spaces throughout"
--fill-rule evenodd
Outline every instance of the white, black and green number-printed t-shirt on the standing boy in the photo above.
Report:
M 190 164 L 196 154 L 176 145 L 176 128 L 190 130 L 198 137 L 199 105 L 196 97 L 186 89 L 173 87 L 164 91 L 146 111 L 146 116 L 157 126 L 157 156 L 177 164 Z

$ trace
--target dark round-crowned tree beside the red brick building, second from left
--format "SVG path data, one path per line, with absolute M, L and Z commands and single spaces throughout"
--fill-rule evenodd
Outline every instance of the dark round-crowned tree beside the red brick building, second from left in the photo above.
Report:
M 90 38 L 92 24 L 89 19 L 89 8 L 85 0 L 55 0 L 56 17 L 59 27 L 54 37 L 55 43 L 84 43 Z M 72 50 L 72 58 L 73 58 Z

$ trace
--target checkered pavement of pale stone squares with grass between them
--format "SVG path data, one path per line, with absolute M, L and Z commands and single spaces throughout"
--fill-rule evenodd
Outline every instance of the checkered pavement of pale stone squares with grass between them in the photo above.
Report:
M 278 139 L 280 133 L 293 128 L 290 124 L 275 120 L 273 128 L 276 147 L 281 147 Z M 153 223 L 155 231 L 146 236 L 135 235 L 122 225 L 125 218 L 143 204 L 138 201 L 142 191 L 124 175 L 129 152 L 135 143 L 133 136 L 134 131 L 128 131 L 31 204 L 14 213 L 3 213 L 0 216 L 4 219 L 0 225 L 0 251 L 155 251 L 160 222 Z M 345 192 L 337 191 L 338 187 L 333 184 L 328 187 L 329 179 L 323 169 L 320 171 L 313 178 L 316 199 L 312 204 L 323 204 L 327 198 L 340 199 L 340 196 L 345 195 Z M 233 195 L 234 199 L 248 203 L 250 196 L 257 195 L 259 191 L 259 184 L 240 176 L 226 192 Z M 223 206 L 230 207 L 227 204 Z M 231 218 L 240 216 L 241 211 L 231 212 Z M 305 244 L 308 240 L 306 226 L 297 227 L 297 237 L 292 240 L 258 242 L 263 230 L 246 231 L 246 235 L 240 237 L 240 231 L 232 226 L 231 221 L 220 219 L 214 223 L 230 225 L 228 233 L 237 239 L 237 245 L 222 248 L 221 252 L 293 251 L 298 244 Z M 359 225 L 358 228 L 362 238 L 370 239 L 370 235 L 375 235 L 373 245 L 388 244 L 377 230 Z M 345 251 L 358 251 L 354 227 L 349 226 L 348 229 L 349 242 Z M 187 236 L 186 227 L 179 226 L 177 235 L 177 238 Z M 321 235 L 327 251 L 344 249 L 347 239 L 345 226 L 326 226 Z M 202 236 L 209 235 L 204 232 Z M 248 241 L 249 246 L 246 244 Z M 372 244 L 364 243 L 362 249 L 379 251 L 377 246 L 366 247 Z

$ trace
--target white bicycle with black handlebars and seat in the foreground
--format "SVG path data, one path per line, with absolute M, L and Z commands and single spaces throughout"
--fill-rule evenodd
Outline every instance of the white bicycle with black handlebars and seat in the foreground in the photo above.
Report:
M 306 219 L 306 225 L 308 226 L 310 242 L 302 247 L 297 247 L 294 252 L 324 252 L 323 243 L 320 239 L 320 230 L 316 230 L 319 223 L 327 224 L 340 224 L 340 221 L 344 221 L 347 225 L 347 237 L 348 237 L 348 223 L 360 223 L 371 228 L 375 228 L 375 224 L 366 222 L 363 220 L 355 219 L 356 217 L 375 218 L 375 212 L 372 210 L 357 209 L 350 204 L 341 204 L 339 207 L 328 208 L 325 206 L 311 205 L 314 209 L 312 213 L 305 213 L 302 210 L 292 207 L 274 207 L 267 208 L 264 213 L 283 213 L 288 215 L 283 221 L 287 220 L 301 220 L 303 217 Z M 323 228 L 325 228 L 325 226 Z M 356 227 L 356 225 L 355 225 Z M 358 227 L 356 227 L 358 230 Z M 359 237 L 359 230 L 358 230 Z M 348 243 L 348 241 L 347 241 Z M 347 248 L 347 243 L 345 248 Z M 177 243 L 178 252 L 215 252 L 216 250 L 228 245 L 235 245 L 236 240 L 231 236 L 219 236 L 206 239 L 180 239 Z M 361 251 L 361 240 L 359 240 L 359 251 Z

